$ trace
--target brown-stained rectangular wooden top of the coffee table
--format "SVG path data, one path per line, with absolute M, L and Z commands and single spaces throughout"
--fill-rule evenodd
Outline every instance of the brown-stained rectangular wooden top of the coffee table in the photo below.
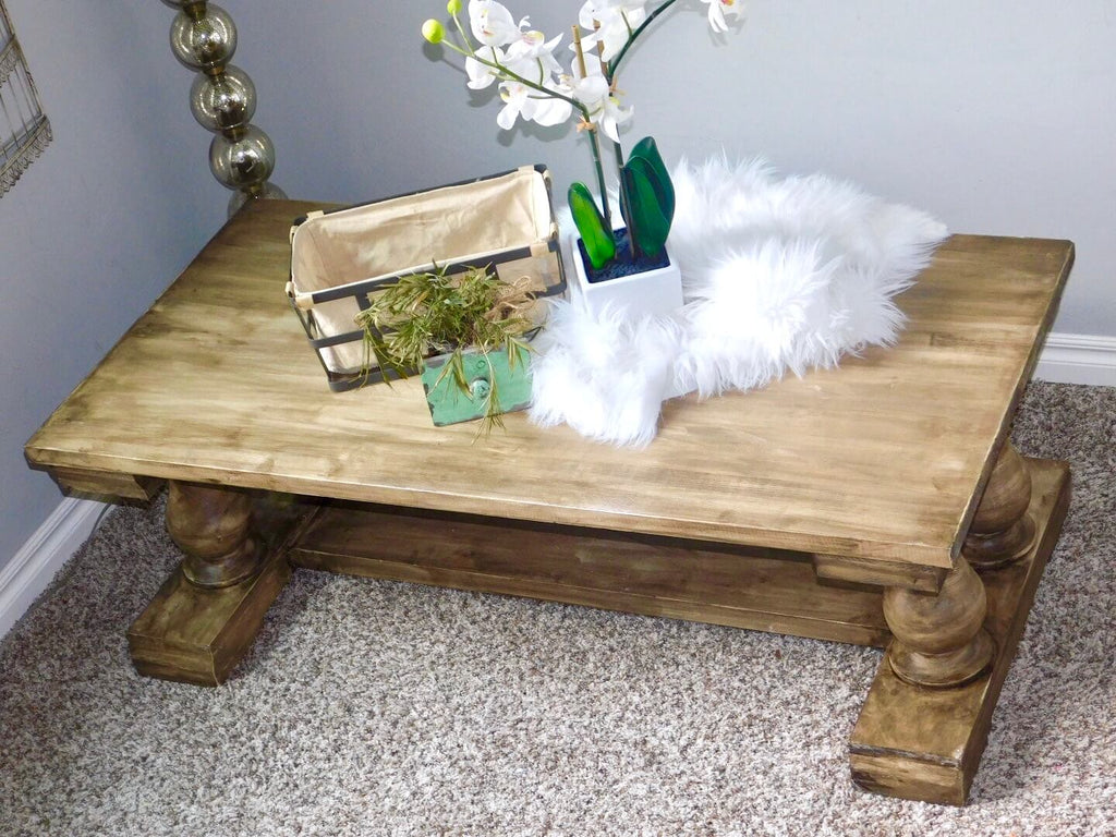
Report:
M 898 345 L 664 405 L 641 451 L 434 427 L 417 379 L 333 393 L 283 288 L 291 220 L 250 202 L 28 442 L 29 462 L 949 567 L 1069 273 L 1068 241 L 955 235 Z

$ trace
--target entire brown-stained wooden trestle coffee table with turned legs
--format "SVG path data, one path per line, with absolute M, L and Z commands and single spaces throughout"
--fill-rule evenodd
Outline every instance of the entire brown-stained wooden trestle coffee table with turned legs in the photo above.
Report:
M 290 565 L 875 645 L 854 780 L 964 802 L 1069 498 L 1008 433 L 1072 244 L 954 237 L 895 348 L 673 401 L 631 451 L 436 429 L 416 381 L 330 393 L 283 295 L 314 208 L 249 204 L 27 445 L 67 490 L 170 481 L 185 557 L 128 632 L 141 673 L 221 683 Z M 269 538 L 267 492 L 314 511 Z

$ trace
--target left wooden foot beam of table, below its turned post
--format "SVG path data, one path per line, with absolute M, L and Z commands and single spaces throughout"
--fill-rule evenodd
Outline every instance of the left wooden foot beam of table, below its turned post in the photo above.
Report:
M 218 686 L 228 679 L 263 624 L 263 616 L 290 579 L 281 551 L 252 578 L 206 589 L 179 567 L 128 628 L 136 671 L 148 677 Z

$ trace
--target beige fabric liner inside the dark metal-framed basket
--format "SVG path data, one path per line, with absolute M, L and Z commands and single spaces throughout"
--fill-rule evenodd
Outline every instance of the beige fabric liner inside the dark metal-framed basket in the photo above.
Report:
M 484 266 L 503 251 L 545 241 L 551 232 L 546 182 L 525 167 L 311 218 L 291 239 L 291 283 L 299 307 L 311 308 L 318 336 L 329 337 L 356 328 L 356 299 L 314 305 L 302 295 L 429 270 L 432 262 Z M 497 272 L 504 281 L 532 277 L 539 290 L 559 276 L 554 253 L 508 262 Z M 359 343 L 321 353 L 330 372 L 354 373 L 364 360 Z

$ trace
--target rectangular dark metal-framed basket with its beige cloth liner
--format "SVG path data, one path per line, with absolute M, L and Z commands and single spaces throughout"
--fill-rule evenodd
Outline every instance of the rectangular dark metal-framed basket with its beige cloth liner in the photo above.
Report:
M 364 369 L 354 317 L 402 276 L 435 264 L 450 272 L 491 267 L 506 282 L 527 277 L 537 299 L 566 289 L 542 165 L 311 212 L 295 221 L 290 242 L 287 294 L 334 389 L 383 379 L 374 360 Z M 532 316 L 541 318 L 541 302 Z

